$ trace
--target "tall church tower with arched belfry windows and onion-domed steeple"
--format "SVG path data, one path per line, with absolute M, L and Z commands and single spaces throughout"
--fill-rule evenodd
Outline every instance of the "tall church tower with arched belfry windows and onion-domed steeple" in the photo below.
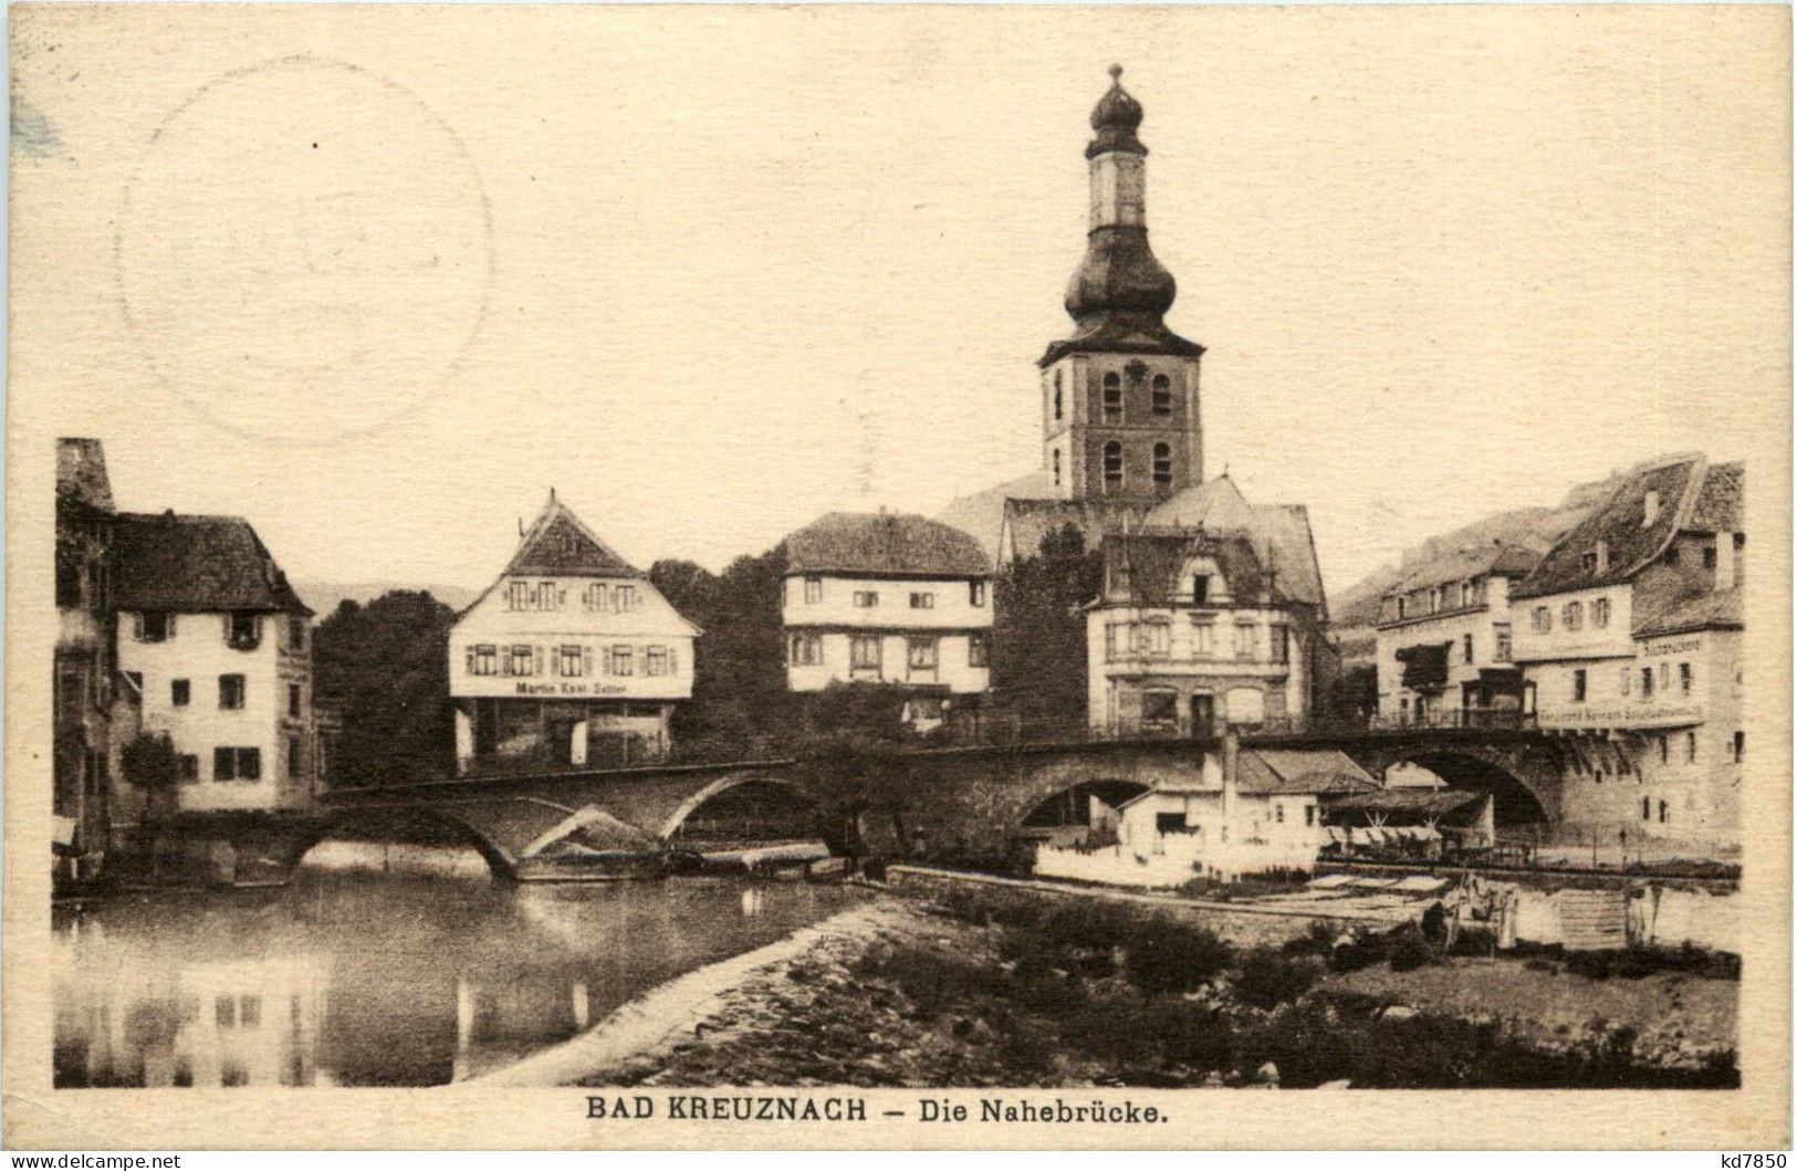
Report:
M 1044 471 L 1062 499 L 1164 499 L 1204 481 L 1199 359 L 1204 347 L 1161 320 L 1173 275 L 1148 250 L 1141 104 L 1123 66 L 1093 110 L 1091 228 L 1067 284 L 1071 338 L 1042 368 Z

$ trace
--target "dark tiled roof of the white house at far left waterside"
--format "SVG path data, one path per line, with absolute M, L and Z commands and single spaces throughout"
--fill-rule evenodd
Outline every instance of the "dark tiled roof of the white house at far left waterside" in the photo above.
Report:
M 120 611 L 311 614 L 243 517 L 120 512 L 113 580 Z

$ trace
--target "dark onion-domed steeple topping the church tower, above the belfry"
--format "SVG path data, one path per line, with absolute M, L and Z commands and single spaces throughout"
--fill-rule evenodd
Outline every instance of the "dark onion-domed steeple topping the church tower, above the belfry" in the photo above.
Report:
M 1173 307 L 1177 286 L 1148 248 L 1145 163 L 1148 147 L 1136 136 L 1141 102 L 1121 84 L 1121 65 L 1111 66 L 1111 90 L 1093 108 L 1093 140 L 1085 147 L 1091 169 L 1091 228 L 1085 259 L 1067 282 L 1073 338 L 1048 347 L 1042 365 L 1076 350 L 1138 354 L 1202 354 L 1204 347 L 1179 338 L 1161 320 Z

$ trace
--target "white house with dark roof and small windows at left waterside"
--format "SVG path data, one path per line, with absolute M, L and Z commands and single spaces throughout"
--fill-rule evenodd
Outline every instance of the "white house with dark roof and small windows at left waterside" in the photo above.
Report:
M 140 733 L 174 744 L 181 812 L 313 801 L 313 611 L 243 517 L 113 517 L 115 774 Z M 122 776 L 122 779 L 129 779 Z M 113 828 L 146 794 L 117 785 Z

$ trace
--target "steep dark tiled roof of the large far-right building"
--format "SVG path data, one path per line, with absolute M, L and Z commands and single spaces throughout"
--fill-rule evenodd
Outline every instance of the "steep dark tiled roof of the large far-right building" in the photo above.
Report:
M 1562 537 L 1511 596 L 1535 598 L 1567 589 L 1589 589 L 1630 580 L 1659 557 L 1684 526 L 1691 503 L 1704 481 L 1704 456 L 1671 456 L 1623 476 L 1598 508 Z M 1651 521 L 1648 496 L 1659 497 Z M 1607 559 L 1596 571 L 1585 568 L 1585 555 L 1603 542 Z

